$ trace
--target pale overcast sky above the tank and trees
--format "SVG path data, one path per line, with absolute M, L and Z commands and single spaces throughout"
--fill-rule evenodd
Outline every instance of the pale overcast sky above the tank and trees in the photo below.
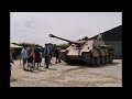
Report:
M 64 44 L 122 25 L 122 12 L 10 12 L 11 43 Z

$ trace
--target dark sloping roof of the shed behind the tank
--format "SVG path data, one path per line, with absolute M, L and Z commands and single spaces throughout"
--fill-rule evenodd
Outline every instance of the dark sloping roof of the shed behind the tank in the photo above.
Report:
M 92 36 L 92 40 L 97 40 L 97 36 Z M 122 41 L 122 25 L 113 28 L 102 33 L 103 41 Z

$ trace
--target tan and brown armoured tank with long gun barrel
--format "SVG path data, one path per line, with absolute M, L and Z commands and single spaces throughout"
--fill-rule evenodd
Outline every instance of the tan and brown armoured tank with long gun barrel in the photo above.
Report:
M 102 40 L 82 38 L 77 42 L 50 34 L 50 37 L 66 41 L 70 46 L 61 51 L 61 59 L 67 64 L 85 62 L 88 65 L 103 65 L 112 63 L 114 50 L 106 45 Z

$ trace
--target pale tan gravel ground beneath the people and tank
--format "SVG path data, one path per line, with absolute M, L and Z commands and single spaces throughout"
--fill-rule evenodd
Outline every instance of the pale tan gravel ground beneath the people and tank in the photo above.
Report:
M 44 62 L 44 61 L 43 61 Z M 62 62 L 40 70 L 24 72 L 20 62 L 12 65 L 11 87 L 122 87 L 122 59 L 98 67 L 67 65 Z

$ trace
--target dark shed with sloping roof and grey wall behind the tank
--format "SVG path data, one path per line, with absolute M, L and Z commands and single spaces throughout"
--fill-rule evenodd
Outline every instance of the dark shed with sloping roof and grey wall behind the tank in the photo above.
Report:
M 97 36 L 91 38 L 97 40 Z M 102 40 L 107 45 L 113 45 L 114 58 L 122 58 L 122 25 L 103 32 Z

